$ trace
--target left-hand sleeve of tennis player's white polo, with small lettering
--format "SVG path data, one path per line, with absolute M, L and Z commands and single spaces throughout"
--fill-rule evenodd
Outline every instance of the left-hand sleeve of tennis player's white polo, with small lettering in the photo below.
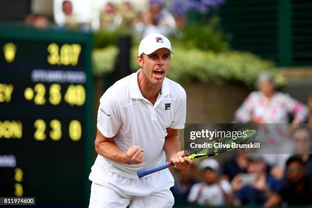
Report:
M 122 109 L 117 98 L 106 92 L 100 99 L 100 105 L 97 112 L 97 128 L 103 136 L 107 138 L 114 137 L 121 124 Z

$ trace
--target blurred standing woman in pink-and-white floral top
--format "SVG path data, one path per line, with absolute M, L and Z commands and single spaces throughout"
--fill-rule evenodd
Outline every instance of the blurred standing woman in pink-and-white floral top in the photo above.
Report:
M 288 94 L 275 91 L 274 77 L 262 73 L 257 82 L 258 91 L 252 92 L 236 111 L 241 123 L 288 123 L 288 113 L 294 115 L 293 123 L 305 121 L 308 109 Z

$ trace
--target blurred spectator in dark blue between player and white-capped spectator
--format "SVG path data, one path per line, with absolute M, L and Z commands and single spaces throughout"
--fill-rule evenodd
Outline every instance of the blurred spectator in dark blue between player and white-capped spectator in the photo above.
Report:
M 194 179 L 195 173 L 194 165 L 190 166 L 189 169 L 179 170 L 179 177 L 174 179 L 174 186 L 170 189 L 175 201 L 187 201 L 192 186 L 197 183 L 197 180 Z

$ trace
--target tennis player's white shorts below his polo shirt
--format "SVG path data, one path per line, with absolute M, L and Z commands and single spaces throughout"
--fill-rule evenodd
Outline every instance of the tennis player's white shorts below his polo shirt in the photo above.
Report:
M 131 179 L 109 170 L 102 170 L 100 180 L 91 178 L 89 208 L 110 207 L 172 207 L 174 198 L 170 187 L 174 185 L 168 169 L 149 177 Z M 98 183 L 100 181 L 100 184 Z

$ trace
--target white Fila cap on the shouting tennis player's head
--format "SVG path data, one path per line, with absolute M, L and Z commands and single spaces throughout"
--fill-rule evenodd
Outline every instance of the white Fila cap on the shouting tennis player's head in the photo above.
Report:
M 147 35 L 139 45 L 139 56 L 141 54 L 149 55 L 159 48 L 167 48 L 171 54 L 175 54 L 171 49 L 171 43 L 165 36 L 159 33 Z

